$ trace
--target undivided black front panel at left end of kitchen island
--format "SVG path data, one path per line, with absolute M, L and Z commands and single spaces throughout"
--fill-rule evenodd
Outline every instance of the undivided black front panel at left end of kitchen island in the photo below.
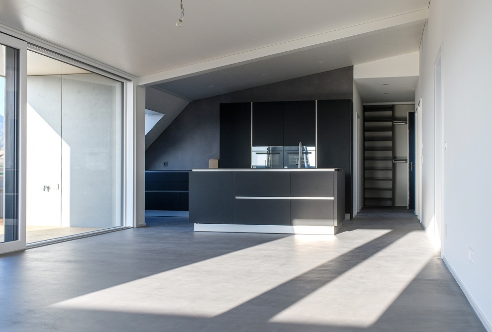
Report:
M 234 172 L 190 173 L 190 222 L 231 224 L 234 221 Z

